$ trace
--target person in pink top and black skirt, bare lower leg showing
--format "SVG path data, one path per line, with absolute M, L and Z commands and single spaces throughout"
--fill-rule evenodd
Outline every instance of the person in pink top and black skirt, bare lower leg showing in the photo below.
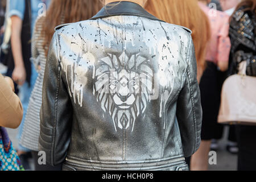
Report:
M 207 68 L 200 81 L 201 104 L 203 107 L 203 122 L 201 129 L 201 144 L 199 150 L 192 155 L 191 170 L 207 170 L 210 143 L 213 138 L 222 137 L 223 126 L 217 123 L 220 107 L 222 78 L 218 70 L 225 72 L 228 69 L 230 39 L 229 16 L 218 10 L 207 7 L 210 1 L 199 1 L 199 6 L 209 17 L 211 39 L 208 44 Z

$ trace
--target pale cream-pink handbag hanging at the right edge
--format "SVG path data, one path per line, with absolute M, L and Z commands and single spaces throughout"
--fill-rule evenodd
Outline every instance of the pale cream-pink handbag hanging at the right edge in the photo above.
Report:
M 246 65 L 242 61 L 222 86 L 218 123 L 256 125 L 256 77 L 246 75 Z

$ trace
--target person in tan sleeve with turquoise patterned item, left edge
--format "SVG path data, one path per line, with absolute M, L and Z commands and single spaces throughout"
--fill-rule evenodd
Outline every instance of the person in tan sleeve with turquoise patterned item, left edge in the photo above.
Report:
M 13 80 L 0 74 L 0 171 L 24 170 L 5 129 L 16 129 L 22 115 L 22 104 L 14 93 Z

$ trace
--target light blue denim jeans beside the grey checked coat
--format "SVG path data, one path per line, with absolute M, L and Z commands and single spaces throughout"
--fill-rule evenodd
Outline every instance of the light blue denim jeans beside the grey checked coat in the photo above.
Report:
M 32 90 L 34 88 L 34 85 L 35 85 L 35 82 L 36 82 L 36 77 L 38 77 L 38 73 L 36 72 L 34 64 L 31 63 L 31 82 L 30 82 L 31 84 L 29 86 L 28 82 L 25 82 L 19 88 L 19 98 L 20 98 L 20 101 L 22 102 L 22 106 L 23 106 L 23 110 L 24 110 L 23 111 L 22 122 L 20 123 L 19 132 L 18 132 L 18 136 L 17 136 L 19 141 L 20 141 L 20 138 L 22 136 L 23 124 L 24 124 L 24 120 L 25 120 L 25 117 L 26 117 L 26 114 L 27 114 L 28 102 L 30 101 L 30 95 L 31 95 L 31 92 L 32 92 Z M 18 146 L 18 150 L 30 151 L 27 148 L 21 146 L 20 144 Z

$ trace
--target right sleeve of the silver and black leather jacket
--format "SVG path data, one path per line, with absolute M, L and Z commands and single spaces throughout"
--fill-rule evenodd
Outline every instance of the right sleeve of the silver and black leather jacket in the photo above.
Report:
M 176 115 L 184 156 L 188 157 L 195 153 L 200 146 L 202 120 L 200 89 L 196 79 L 195 48 L 191 36 L 187 49 L 186 62 L 185 84 L 179 94 Z

